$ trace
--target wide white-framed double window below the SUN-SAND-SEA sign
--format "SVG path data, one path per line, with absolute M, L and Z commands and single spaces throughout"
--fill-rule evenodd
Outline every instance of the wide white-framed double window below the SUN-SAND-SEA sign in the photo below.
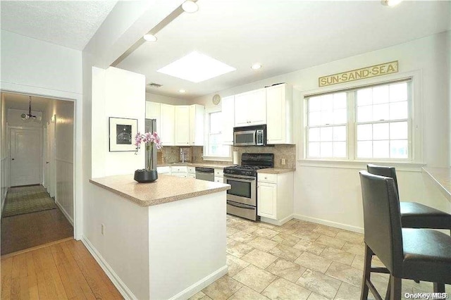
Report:
M 412 161 L 412 79 L 305 99 L 307 159 Z

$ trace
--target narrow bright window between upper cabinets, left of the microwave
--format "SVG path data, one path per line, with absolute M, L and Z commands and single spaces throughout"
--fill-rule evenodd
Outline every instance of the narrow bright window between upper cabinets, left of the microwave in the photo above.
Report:
M 223 145 L 223 113 L 217 108 L 209 109 L 205 119 L 204 160 L 231 160 L 231 146 Z

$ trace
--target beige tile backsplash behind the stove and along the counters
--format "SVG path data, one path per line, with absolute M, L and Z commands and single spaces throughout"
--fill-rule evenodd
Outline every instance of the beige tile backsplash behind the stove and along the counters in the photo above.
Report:
M 159 150 L 163 153 L 163 163 L 178 163 L 180 161 L 180 147 L 178 146 L 164 146 Z M 257 146 L 233 146 L 233 151 L 238 151 L 241 162 L 241 154 L 247 153 L 272 153 L 274 154 L 274 168 L 296 168 L 296 145 L 275 145 L 266 147 Z M 191 162 L 192 163 L 209 163 L 214 164 L 214 161 L 204 161 L 202 156 L 204 149 L 202 146 L 191 147 Z M 282 158 L 285 158 L 285 165 L 282 165 Z M 223 162 L 218 162 L 223 163 Z

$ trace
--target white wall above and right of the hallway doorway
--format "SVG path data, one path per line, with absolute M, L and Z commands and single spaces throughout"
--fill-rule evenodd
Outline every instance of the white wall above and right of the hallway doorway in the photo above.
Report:
M 82 52 L 1 30 L 2 91 L 75 101 L 75 237 L 82 232 Z M 80 121 L 78 121 L 80 120 Z M 3 128 L 3 127 L 2 127 Z M 3 163 L 2 163 L 3 168 Z

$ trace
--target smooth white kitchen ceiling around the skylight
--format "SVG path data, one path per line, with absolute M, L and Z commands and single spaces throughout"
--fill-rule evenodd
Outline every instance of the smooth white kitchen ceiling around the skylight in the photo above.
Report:
M 182 13 L 117 67 L 163 85 L 147 92 L 192 99 L 450 30 L 450 3 L 198 0 L 197 13 Z M 194 50 L 237 70 L 199 83 L 156 72 Z M 251 70 L 257 62 L 263 68 Z

